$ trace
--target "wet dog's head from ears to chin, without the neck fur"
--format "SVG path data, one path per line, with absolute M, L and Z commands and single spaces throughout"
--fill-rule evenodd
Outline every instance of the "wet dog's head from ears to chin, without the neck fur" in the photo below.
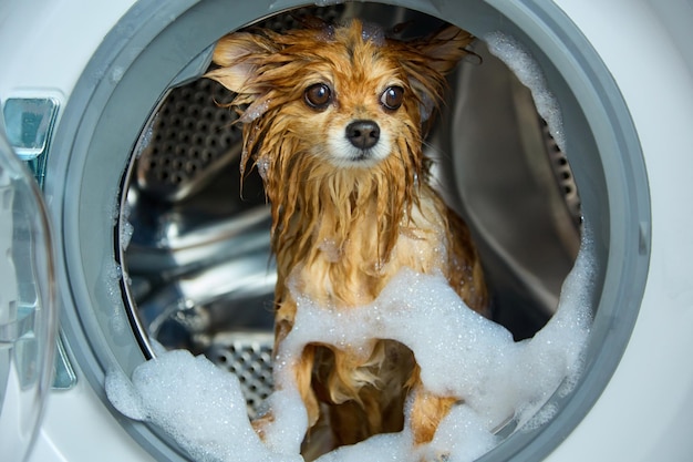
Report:
M 358 20 L 285 34 L 237 32 L 219 41 L 214 61 L 220 68 L 207 76 L 238 94 L 240 121 L 252 129 L 246 137 L 251 154 L 300 152 L 331 168 L 369 168 L 391 155 L 416 155 L 443 75 L 470 40 L 448 27 L 427 39 L 395 41 Z M 275 125 L 271 133 L 267 123 Z M 273 152 L 267 137 L 275 134 L 294 138 L 293 152 Z

